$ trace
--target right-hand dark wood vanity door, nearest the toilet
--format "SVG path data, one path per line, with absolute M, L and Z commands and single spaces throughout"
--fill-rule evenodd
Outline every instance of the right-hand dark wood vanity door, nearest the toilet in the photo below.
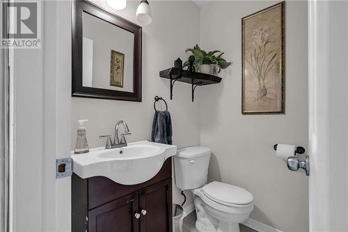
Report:
M 171 185 L 168 178 L 139 191 L 140 232 L 172 231 Z

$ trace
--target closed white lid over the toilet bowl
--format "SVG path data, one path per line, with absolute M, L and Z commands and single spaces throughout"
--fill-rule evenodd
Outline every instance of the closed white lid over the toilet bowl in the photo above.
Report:
M 217 181 L 205 185 L 203 193 L 212 201 L 225 205 L 247 205 L 253 201 L 253 195 L 242 187 Z

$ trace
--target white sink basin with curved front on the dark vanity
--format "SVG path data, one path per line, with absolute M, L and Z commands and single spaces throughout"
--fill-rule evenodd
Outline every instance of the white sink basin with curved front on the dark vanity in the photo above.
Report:
M 150 141 L 122 148 L 91 148 L 89 153 L 72 155 L 73 171 L 81 178 L 104 176 L 122 185 L 136 185 L 156 176 L 176 151 L 176 146 Z

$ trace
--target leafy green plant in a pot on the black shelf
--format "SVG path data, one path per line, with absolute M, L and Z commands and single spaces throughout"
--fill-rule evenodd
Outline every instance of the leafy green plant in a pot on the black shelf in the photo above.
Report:
M 205 50 L 200 49 L 198 45 L 186 49 L 186 52 L 191 52 L 195 56 L 196 60 L 193 63 L 198 72 L 203 72 L 207 74 L 217 75 L 221 72 L 221 69 L 228 68 L 232 63 L 227 62 L 221 56 L 223 52 L 218 50 L 205 52 Z M 189 67 L 189 61 L 185 61 L 183 67 Z

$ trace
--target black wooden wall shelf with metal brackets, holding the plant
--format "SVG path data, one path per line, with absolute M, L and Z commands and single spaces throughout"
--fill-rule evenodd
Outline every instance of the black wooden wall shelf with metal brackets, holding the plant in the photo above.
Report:
M 177 82 L 184 82 L 192 85 L 192 102 L 194 99 L 194 91 L 197 86 L 205 86 L 207 84 L 217 84 L 221 82 L 221 77 L 201 73 L 190 72 L 180 68 L 168 68 L 159 72 L 159 77 L 171 80 L 171 100 L 173 99 L 173 85 Z

